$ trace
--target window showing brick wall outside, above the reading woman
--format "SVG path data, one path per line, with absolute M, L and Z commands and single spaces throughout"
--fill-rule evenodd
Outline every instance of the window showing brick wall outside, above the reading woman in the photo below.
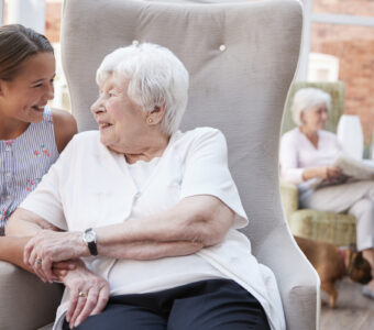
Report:
M 298 79 L 344 82 L 344 113 L 360 117 L 367 151 L 374 133 L 374 1 L 302 2 L 304 70 Z

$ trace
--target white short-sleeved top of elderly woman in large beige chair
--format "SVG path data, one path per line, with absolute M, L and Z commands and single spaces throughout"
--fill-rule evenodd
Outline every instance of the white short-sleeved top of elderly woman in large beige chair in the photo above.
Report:
M 263 306 L 271 328 L 285 329 L 274 274 L 256 262 L 251 254 L 250 241 L 237 230 L 245 227 L 248 219 L 229 172 L 226 139 L 216 129 L 174 133 L 141 189 L 136 187 L 123 155 L 102 145 L 98 131 L 77 134 L 21 208 L 63 230 L 84 231 L 90 227 L 136 221 L 139 217 L 167 210 L 183 198 L 196 195 L 216 196 L 235 212 L 235 220 L 221 243 L 202 249 L 193 257 L 205 270 L 210 270 L 209 276 L 232 278 L 248 289 Z M 175 258 L 183 260 L 184 256 Z M 167 267 L 173 267 L 175 258 L 169 258 L 172 262 Z M 119 282 L 114 283 L 113 272 L 125 272 L 121 264 L 131 261 L 103 256 L 84 260 L 88 268 L 109 280 L 112 295 L 123 292 Z M 160 265 L 165 260 L 168 258 L 163 258 Z M 150 261 L 140 263 L 141 267 L 146 267 Z M 193 278 L 188 277 L 188 280 Z M 151 289 L 152 277 L 150 279 L 145 290 Z M 158 279 L 162 282 L 162 276 Z M 165 282 L 154 284 L 163 287 Z M 128 282 L 125 289 L 130 293 L 139 287 L 132 287 Z M 54 329 L 61 329 L 67 304 L 65 292 Z

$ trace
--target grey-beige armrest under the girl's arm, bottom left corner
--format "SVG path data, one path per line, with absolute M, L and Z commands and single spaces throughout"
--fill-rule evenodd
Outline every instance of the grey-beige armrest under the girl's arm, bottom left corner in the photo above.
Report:
M 0 329 L 38 329 L 55 319 L 63 286 L 0 261 Z

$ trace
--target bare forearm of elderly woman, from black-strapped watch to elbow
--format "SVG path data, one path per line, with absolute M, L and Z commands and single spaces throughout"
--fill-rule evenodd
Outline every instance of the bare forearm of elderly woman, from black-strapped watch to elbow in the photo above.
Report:
M 140 251 L 141 254 L 151 246 L 158 249 L 155 252 L 157 257 L 169 256 L 173 253 L 173 248 L 169 251 L 169 246 L 178 242 L 180 246 L 189 245 L 188 251 L 194 250 L 194 244 L 204 248 L 221 242 L 233 219 L 234 212 L 215 197 L 185 198 L 161 215 L 96 229 L 98 251 L 99 254 L 112 257 L 134 257 L 139 246 L 146 246 Z M 164 248 L 167 248 L 166 254 L 160 255 L 166 251 Z M 119 256 L 117 251 L 128 252 L 122 252 L 124 254 Z M 134 254 L 129 256 L 128 253 L 132 251 Z M 179 253 L 178 251 L 177 255 Z

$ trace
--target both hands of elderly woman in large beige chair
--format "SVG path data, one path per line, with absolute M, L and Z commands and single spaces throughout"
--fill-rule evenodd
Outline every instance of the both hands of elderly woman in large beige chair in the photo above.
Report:
M 70 329 L 101 312 L 109 299 L 108 282 L 89 272 L 81 256 L 88 256 L 79 232 L 42 230 L 24 248 L 24 263 L 43 282 L 61 280 L 69 289 L 66 320 Z

